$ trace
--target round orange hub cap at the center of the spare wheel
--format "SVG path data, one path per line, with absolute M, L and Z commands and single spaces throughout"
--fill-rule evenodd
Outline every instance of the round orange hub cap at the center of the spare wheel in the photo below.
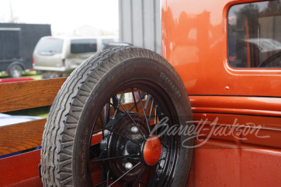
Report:
M 161 155 L 162 146 L 157 137 L 150 137 L 143 147 L 143 158 L 148 165 L 155 165 Z

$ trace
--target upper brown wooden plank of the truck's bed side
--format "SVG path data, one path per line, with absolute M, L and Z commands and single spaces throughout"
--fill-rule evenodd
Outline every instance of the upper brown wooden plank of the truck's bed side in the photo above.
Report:
M 66 78 L 0 84 L 0 113 L 53 104 Z

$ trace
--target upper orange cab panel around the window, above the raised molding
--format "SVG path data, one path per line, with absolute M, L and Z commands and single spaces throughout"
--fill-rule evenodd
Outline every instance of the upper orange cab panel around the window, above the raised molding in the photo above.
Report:
M 227 11 L 244 2 L 162 1 L 162 53 L 189 95 L 281 96 L 280 69 L 228 65 Z

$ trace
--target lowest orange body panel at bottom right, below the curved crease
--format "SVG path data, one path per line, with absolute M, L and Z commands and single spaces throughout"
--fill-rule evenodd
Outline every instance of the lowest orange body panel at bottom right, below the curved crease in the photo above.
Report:
M 188 186 L 281 185 L 280 149 L 233 146 L 212 140 L 195 149 Z

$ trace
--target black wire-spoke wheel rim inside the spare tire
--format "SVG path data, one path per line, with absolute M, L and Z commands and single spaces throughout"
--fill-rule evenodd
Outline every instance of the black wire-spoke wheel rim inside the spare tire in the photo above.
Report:
M 166 125 L 155 130 L 160 121 L 166 121 Z M 159 134 L 175 124 L 178 116 L 174 105 L 155 83 L 129 81 L 113 90 L 93 117 L 88 151 L 91 186 L 169 186 L 177 165 L 180 137 Z M 100 143 L 93 144 L 98 135 Z M 144 146 L 151 137 L 161 142 L 161 155 L 149 165 Z

